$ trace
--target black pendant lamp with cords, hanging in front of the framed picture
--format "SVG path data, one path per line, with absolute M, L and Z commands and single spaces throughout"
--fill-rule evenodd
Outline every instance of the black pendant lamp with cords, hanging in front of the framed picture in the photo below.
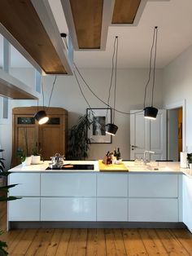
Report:
M 115 62 L 115 73 L 114 73 L 114 57 L 116 55 L 116 62 Z M 118 55 L 118 37 L 116 36 L 114 41 L 114 51 L 113 51 L 113 57 L 112 57 L 112 69 L 111 69 L 111 85 L 113 80 L 113 73 L 114 73 L 114 104 L 113 104 L 113 121 L 112 123 L 108 123 L 106 125 L 106 133 L 108 135 L 116 135 L 116 131 L 118 130 L 118 126 L 114 124 L 115 121 L 115 114 L 116 114 L 116 67 L 117 67 L 117 55 Z M 110 86 L 111 90 L 111 86 Z M 109 105 L 109 99 L 110 99 L 110 90 L 109 90 L 109 98 L 108 98 L 108 105 Z

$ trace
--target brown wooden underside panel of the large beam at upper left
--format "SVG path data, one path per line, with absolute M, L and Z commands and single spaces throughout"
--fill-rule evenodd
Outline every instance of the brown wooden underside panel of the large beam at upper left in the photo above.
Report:
M 1 0 L 0 22 L 45 73 L 67 73 L 31 1 Z

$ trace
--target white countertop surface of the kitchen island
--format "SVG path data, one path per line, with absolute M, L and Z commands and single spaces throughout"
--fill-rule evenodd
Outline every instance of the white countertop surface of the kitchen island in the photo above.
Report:
M 49 166 L 50 161 L 41 161 L 39 165 L 30 165 L 30 166 L 15 166 L 12 168 L 11 172 L 98 172 L 98 161 L 64 161 L 64 164 L 78 164 L 78 165 L 94 165 L 94 170 L 46 170 Z M 129 170 L 129 173 L 167 173 L 167 174 L 185 174 L 192 178 L 192 170 L 180 167 L 180 162 L 177 161 L 164 161 L 164 162 L 156 162 L 151 161 L 147 163 L 146 166 L 136 165 L 134 161 L 124 161 L 124 166 L 126 166 Z M 119 172 L 119 170 L 116 170 Z

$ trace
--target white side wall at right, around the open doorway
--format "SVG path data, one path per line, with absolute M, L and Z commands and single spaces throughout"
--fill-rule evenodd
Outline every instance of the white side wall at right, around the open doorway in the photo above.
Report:
M 163 72 L 164 106 L 186 100 L 186 149 L 192 152 L 192 46 Z

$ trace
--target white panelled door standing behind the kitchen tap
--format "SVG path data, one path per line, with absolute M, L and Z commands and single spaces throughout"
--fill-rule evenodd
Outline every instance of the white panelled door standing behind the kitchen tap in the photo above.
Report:
M 132 110 L 131 113 L 138 110 Z M 130 159 L 143 157 L 145 150 L 154 151 L 151 160 L 167 159 L 166 110 L 159 109 L 156 120 L 144 118 L 142 113 L 130 116 Z

